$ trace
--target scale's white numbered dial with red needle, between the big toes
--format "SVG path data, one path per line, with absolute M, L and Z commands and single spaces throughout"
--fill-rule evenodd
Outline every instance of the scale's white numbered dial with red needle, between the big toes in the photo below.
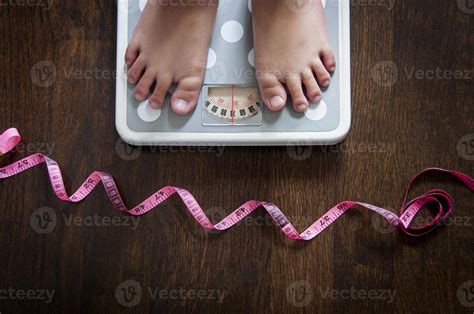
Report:
M 241 121 L 256 116 L 261 103 L 257 87 L 209 87 L 205 108 L 212 117 Z

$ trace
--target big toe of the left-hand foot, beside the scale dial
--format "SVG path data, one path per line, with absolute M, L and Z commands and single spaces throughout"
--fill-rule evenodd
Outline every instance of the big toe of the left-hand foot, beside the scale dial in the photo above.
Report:
M 179 81 L 171 97 L 171 108 L 180 115 L 191 112 L 199 99 L 203 78 L 190 76 Z

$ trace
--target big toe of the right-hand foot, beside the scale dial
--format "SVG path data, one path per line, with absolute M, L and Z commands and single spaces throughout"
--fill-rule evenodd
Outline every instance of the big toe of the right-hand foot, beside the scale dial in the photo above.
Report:
M 283 85 L 273 75 L 261 75 L 258 85 L 262 100 L 271 111 L 280 111 L 286 104 L 286 91 Z

